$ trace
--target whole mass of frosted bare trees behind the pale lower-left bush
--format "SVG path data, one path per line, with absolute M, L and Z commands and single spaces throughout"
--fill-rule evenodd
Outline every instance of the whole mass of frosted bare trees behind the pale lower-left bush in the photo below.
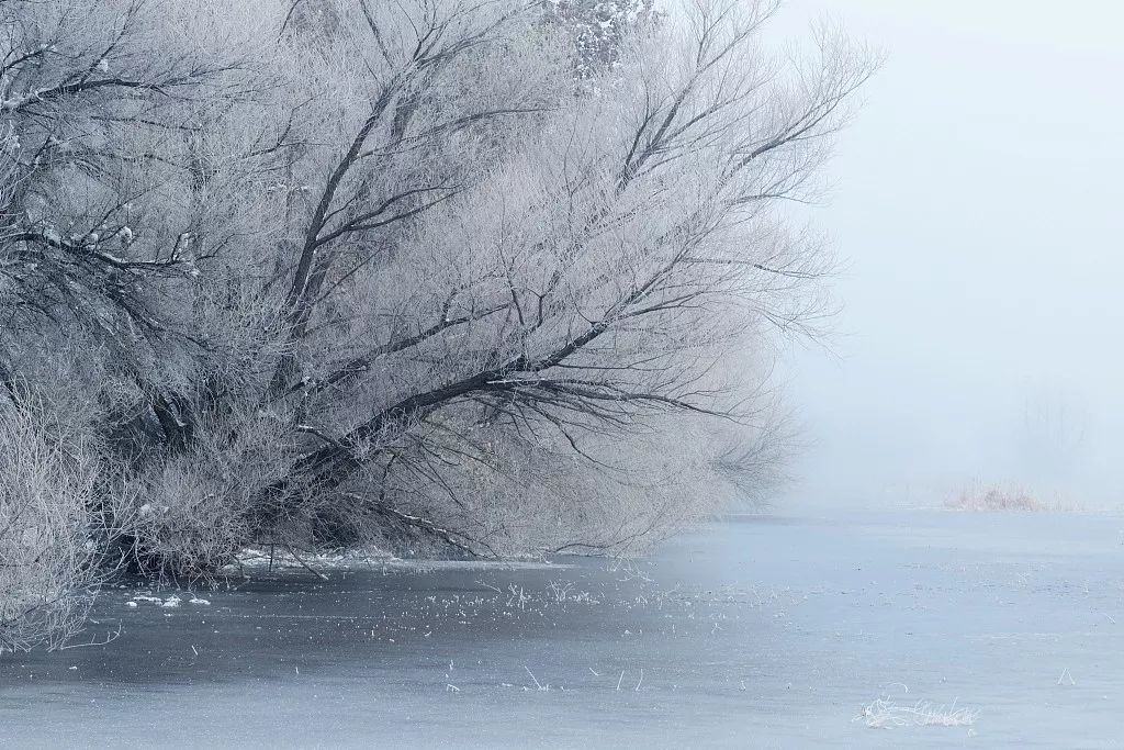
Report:
M 206 576 L 627 553 L 759 497 L 832 260 L 780 205 L 872 67 L 772 54 L 772 10 L 0 3 L 0 376 L 65 376 L 100 479 L 57 517 Z

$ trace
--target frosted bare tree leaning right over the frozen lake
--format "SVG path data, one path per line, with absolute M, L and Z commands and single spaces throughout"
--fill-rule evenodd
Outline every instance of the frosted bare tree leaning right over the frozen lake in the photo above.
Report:
M 555 56 L 520 10 L 434 16 L 420 33 L 413 19 L 397 53 L 392 18 L 346 25 L 373 37 L 363 70 L 406 72 L 365 94 L 374 115 L 352 114 L 314 162 L 320 179 L 299 179 L 323 186 L 298 224 L 300 343 L 266 400 L 297 413 L 312 450 L 269 488 L 265 525 L 309 513 L 335 536 L 400 522 L 473 549 L 531 525 L 563 546 L 615 528 L 582 523 L 586 506 L 615 506 L 622 539 L 650 535 L 690 517 L 688 487 L 729 467 L 692 431 L 779 435 L 762 428 L 754 370 L 771 331 L 822 310 L 830 259 L 778 205 L 803 195 L 869 64 L 825 36 L 816 60 L 786 67 L 759 44 L 772 7 L 703 6 L 623 37 L 611 93 L 575 100 L 568 39 Z M 471 45 L 437 46 L 430 71 L 410 57 L 418 38 Z M 638 473 L 663 480 L 633 500 L 623 486 Z M 569 513 L 527 524 L 528 496 Z

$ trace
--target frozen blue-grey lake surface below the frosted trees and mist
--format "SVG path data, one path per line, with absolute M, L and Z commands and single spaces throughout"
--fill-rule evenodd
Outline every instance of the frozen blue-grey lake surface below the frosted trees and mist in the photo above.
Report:
M 257 571 L 93 616 L 120 636 L 0 658 L 0 746 L 1124 743 L 1114 516 L 744 516 L 634 566 Z

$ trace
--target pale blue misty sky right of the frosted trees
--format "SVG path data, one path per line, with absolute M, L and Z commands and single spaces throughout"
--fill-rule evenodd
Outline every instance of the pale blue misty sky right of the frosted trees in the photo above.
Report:
M 1124 6 L 791 0 L 781 20 L 824 13 L 887 63 L 815 216 L 849 266 L 835 356 L 786 367 L 813 442 L 795 494 L 1120 504 Z

